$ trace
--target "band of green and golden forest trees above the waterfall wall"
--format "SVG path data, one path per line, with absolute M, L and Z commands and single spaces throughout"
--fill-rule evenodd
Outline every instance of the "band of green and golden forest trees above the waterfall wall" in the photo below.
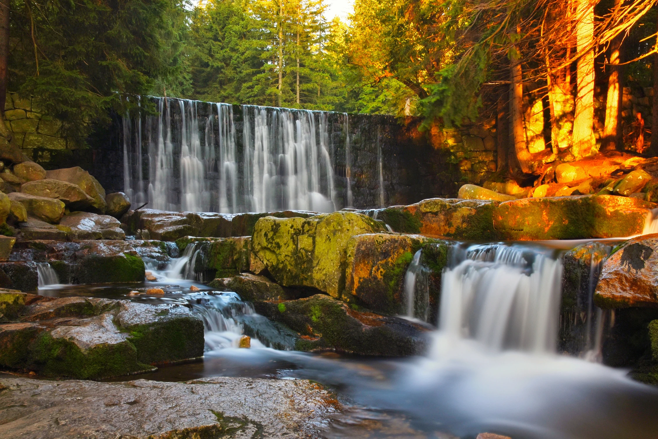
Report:
M 567 150 L 649 147 L 621 128 L 637 117 L 621 95 L 658 84 L 657 1 L 355 0 L 345 23 L 324 0 L 3 0 L 0 104 L 38 96 L 80 139 L 147 94 L 426 128 L 504 116 L 520 170 L 536 173 Z

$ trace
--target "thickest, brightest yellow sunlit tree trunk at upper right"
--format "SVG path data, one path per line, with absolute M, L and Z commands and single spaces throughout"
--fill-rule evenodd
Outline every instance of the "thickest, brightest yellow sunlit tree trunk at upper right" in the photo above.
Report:
M 572 153 L 580 159 L 594 146 L 594 4 L 590 0 L 578 0 L 576 19 L 578 92 Z

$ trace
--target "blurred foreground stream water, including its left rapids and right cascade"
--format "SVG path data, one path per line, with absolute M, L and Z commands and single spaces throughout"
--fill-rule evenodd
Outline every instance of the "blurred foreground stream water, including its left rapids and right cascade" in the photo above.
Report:
M 624 370 L 555 353 L 562 271 L 555 246 L 453 247 L 439 328 L 426 355 L 407 359 L 285 350 L 285 332 L 237 294 L 213 294 L 185 278 L 192 277 L 190 246 L 169 271 L 151 270 L 158 282 L 143 285 L 166 296 L 133 299 L 190 305 L 205 322 L 205 359 L 139 378 L 313 379 L 334 387 L 347 407 L 326 432 L 330 438 L 474 438 L 484 431 L 514 439 L 657 438 L 658 389 Z M 201 290 L 190 292 L 191 285 Z M 136 285 L 43 288 L 47 295 L 125 299 Z M 252 348 L 236 348 L 247 331 L 256 335 Z

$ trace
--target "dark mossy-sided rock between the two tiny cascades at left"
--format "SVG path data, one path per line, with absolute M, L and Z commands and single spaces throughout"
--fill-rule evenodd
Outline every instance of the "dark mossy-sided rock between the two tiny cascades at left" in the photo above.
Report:
M 144 263 L 125 241 L 98 240 L 80 244 L 76 277 L 80 284 L 143 282 Z

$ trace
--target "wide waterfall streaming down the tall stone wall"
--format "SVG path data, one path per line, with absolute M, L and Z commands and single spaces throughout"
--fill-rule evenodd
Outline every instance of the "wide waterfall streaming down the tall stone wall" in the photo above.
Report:
M 336 210 L 328 113 L 242 105 L 234 114 L 224 103 L 149 99 L 157 115 L 122 120 L 124 190 L 134 207 Z

